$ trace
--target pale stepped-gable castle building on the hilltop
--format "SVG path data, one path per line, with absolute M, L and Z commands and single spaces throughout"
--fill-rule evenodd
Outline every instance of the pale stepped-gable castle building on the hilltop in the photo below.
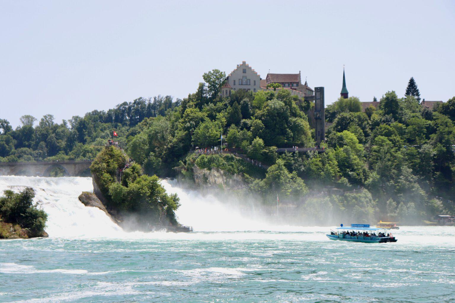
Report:
M 252 90 L 257 92 L 261 89 L 261 77 L 254 71 L 246 61 L 238 64 L 237 68 L 227 76 L 227 82 L 222 87 L 222 96 L 231 94 L 231 90 Z

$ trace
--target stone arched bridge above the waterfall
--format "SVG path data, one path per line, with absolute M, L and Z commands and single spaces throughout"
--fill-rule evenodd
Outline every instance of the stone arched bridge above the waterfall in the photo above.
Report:
M 91 164 L 85 161 L 52 161 L 52 162 L 4 162 L 0 163 L 0 175 L 21 175 L 50 177 L 55 169 L 63 172 L 65 176 L 80 176 Z

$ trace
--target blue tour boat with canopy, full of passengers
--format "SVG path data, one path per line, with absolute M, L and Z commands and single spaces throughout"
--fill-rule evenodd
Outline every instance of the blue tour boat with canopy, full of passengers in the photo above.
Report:
M 343 224 L 341 224 L 341 227 L 336 229 L 336 231 L 330 230 L 330 234 L 326 235 L 330 240 L 362 243 L 397 242 L 397 239 L 389 230 L 370 227 L 369 224 L 351 224 L 350 227 L 343 227 Z M 384 232 L 381 232 L 381 230 Z

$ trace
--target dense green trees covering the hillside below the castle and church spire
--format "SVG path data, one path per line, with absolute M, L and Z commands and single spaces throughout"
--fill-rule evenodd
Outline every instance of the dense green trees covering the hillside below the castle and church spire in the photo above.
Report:
M 388 91 L 377 108 L 365 112 L 359 99 L 340 98 L 326 109 L 327 122 L 333 124 L 324 153 L 277 154 L 276 147 L 314 146 L 307 118 L 312 102 L 287 89 L 239 90 L 222 98 L 224 73 L 212 70 L 203 78 L 195 93 L 175 102 L 169 96 L 139 98 L 62 124 L 46 115 L 33 126 L 35 119 L 24 116 L 15 130 L 1 120 L 0 160 L 94 159 L 116 130 L 119 145 L 146 175 L 191 179 L 194 165 L 242 174 L 249 193 L 259 193 L 267 203 L 276 203 L 278 193 L 282 203 L 307 205 L 308 219 L 329 209 L 364 221 L 402 222 L 455 212 L 455 97 L 430 110 L 418 96 Z M 235 157 L 188 155 L 196 147 L 219 146 L 221 134 L 224 147 L 269 168 L 248 167 Z M 118 186 L 128 184 L 111 186 L 107 179 L 103 190 L 112 203 L 125 203 L 129 194 Z M 334 188 L 361 194 L 334 196 Z

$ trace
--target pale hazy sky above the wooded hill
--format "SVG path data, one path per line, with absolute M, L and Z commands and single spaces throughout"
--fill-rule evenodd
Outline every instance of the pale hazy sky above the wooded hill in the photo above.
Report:
M 455 1 L 0 0 L 0 118 L 57 122 L 137 97 L 183 98 L 243 60 L 339 97 L 455 95 Z

